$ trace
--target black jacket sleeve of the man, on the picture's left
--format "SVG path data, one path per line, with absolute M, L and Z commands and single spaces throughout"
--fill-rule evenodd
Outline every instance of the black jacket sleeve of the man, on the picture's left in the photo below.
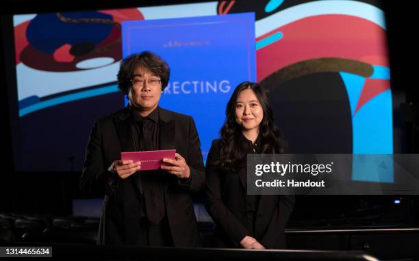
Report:
M 112 174 L 107 171 L 107 167 L 110 166 L 105 166 L 103 162 L 102 146 L 100 124 L 96 121 L 86 146 L 86 157 L 79 182 L 80 190 L 85 196 L 110 195 L 116 190 L 118 180 L 112 185 L 107 182 Z

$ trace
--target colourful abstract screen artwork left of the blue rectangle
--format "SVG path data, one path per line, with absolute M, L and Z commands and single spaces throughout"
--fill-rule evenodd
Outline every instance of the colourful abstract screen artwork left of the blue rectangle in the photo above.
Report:
M 15 16 L 20 116 L 116 92 L 103 84 L 122 57 L 120 22 L 143 18 L 136 9 Z

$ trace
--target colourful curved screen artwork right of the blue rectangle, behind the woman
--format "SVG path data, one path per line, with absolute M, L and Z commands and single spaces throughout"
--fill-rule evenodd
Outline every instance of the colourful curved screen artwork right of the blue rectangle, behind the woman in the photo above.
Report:
M 281 8 L 282 3 L 291 2 L 294 5 Z M 245 12 L 246 8 L 249 5 L 240 5 L 239 1 L 222 1 L 218 12 Z M 340 110 L 333 124 L 318 121 L 312 125 L 323 130 L 320 133 L 323 137 L 306 140 L 289 135 L 294 136 L 297 146 L 300 145 L 301 150 L 312 148 L 309 151 L 312 153 L 319 150 L 393 153 L 392 94 L 383 12 L 362 1 L 267 1 L 265 9 L 258 10 L 256 16 L 260 18 L 256 25 L 257 77 L 271 91 L 272 100 L 281 104 L 274 104 L 275 113 L 283 115 L 281 111 L 286 109 L 299 111 L 301 103 L 308 102 L 312 102 L 310 110 L 314 115 L 329 115 L 330 110 Z M 326 76 L 316 84 L 312 81 L 314 74 Z M 340 75 L 340 81 L 331 80 L 333 74 Z M 301 80 L 299 87 L 290 86 L 290 81 L 297 79 Z M 309 92 L 316 89 L 327 92 L 324 96 L 329 97 L 328 102 L 316 100 L 315 94 L 303 98 L 301 92 L 307 93 L 304 86 L 311 89 Z M 287 88 L 291 90 L 285 90 Z M 336 92 L 337 88 L 346 92 L 340 92 L 340 97 L 330 97 L 328 94 Z M 290 94 L 292 90 L 294 95 Z M 348 108 L 333 107 L 333 99 L 340 100 L 340 105 L 347 100 Z M 327 106 L 322 107 L 325 103 Z M 284 104 L 288 107 L 283 107 Z M 297 112 L 283 116 L 288 119 L 285 133 L 288 126 L 294 126 L 291 129 L 296 132 L 305 129 L 295 120 L 304 119 L 304 115 Z M 352 137 L 342 135 L 350 133 L 345 128 L 351 128 Z M 345 146 L 348 140 L 352 142 Z M 316 141 L 319 146 L 313 146 Z M 392 167 L 389 169 L 388 175 L 371 178 L 354 165 L 353 180 L 392 182 Z

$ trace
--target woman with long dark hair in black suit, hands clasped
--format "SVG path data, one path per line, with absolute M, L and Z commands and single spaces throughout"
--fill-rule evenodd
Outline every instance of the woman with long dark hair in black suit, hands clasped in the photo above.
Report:
M 213 247 L 285 248 L 294 196 L 246 194 L 246 155 L 288 152 L 257 83 L 236 87 L 220 135 L 212 141 L 205 169 L 205 208 L 216 224 Z

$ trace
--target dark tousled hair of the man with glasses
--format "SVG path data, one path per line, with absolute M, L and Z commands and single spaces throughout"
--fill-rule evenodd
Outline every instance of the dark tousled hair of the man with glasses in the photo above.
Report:
M 170 68 L 164 59 L 149 51 L 134 53 L 120 61 L 118 72 L 119 90 L 124 94 L 128 94 L 129 88 L 132 85 L 131 80 L 133 78 L 134 70 L 138 67 L 145 68 L 160 77 L 162 81 L 162 90 L 164 90 L 169 81 Z

